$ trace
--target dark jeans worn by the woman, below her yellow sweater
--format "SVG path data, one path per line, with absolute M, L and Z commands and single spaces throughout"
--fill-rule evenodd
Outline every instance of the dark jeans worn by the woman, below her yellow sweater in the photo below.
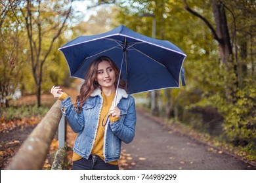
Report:
M 105 163 L 99 156 L 91 155 L 88 159 L 82 158 L 73 161 L 73 170 L 119 170 L 118 165 Z

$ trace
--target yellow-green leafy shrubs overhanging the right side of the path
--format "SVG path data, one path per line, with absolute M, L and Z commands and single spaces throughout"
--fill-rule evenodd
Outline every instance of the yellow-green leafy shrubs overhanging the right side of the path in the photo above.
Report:
M 214 71 L 212 69 L 211 75 L 215 73 Z M 219 69 L 219 71 L 222 71 L 222 69 Z M 249 146 L 256 146 L 256 90 L 254 87 L 256 81 L 252 78 L 244 78 L 242 81 L 243 87 L 236 88 L 233 85 L 236 88 L 233 91 L 236 92 L 233 96 L 226 97 L 224 92 L 225 83 L 234 83 L 232 73 L 219 72 L 217 77 L 219 80 L 210 79 L 211 76 L 206 77 L 205 85 L 202 85 L 204 92 L 200 101 L 190 104 L 187 109 L 216 108 L 224 118 L 224 133 L 230 141 L 236 145 L 245 146 L 249 144 Z M 217 88 L 219 89 L 216 90 Z

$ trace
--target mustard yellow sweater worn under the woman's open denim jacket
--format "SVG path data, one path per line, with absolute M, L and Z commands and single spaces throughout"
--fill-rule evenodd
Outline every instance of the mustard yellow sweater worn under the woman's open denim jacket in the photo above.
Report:
M 115 93 L 116 92 L 113 92 L 109 96 L 104 95 L 103 92 L 101 93 L 102 97 L 103 97 L 103 105 L 102 105 L 102 110 L 100 111 L 100 120 L 98 122 L 98 129 L 96 131 L 96 138 L 95 138 L 95 142 L 93 144 L 93 150 L 92 150 L 91 154 L 96 154 L 103 160 L 104 160 L 103 148 L 104 148 L 105 127 L 102 126 L 102 122 L 103 122 L 103 124 L 106 123 L 106 120 L 108 118 L 108 112 L 109 112 L 112 102 L 114 100 Z M 59 99 L 64 100 L 64 99 L 66 99 L 66 97 L 68 97 L 68 95 L 66 93 L 63 93 Z M 110 116 L 110 122 L 116 122 L 117 120 L 119 120 L 119 117 Z M 78 154 L 76 154 L 74 152 L 72 161 L 77 161 L 81 158 L 82 158 L 81 156 L 79 156 Z M 112 165 L 118 165 L 118 161 L 111 161 L 108 163 L 110 163 Z

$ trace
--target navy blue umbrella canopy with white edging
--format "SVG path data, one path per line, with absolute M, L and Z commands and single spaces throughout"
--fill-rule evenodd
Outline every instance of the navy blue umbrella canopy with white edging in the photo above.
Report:
M 70 76 L 84 78 L 91 62 L 108 56 L 120 68 L 129 94 L 179 88 L 186 55 L 169 41 L 140 35 L 124 25 L 100 35 L 80 36 L 61 48 Z

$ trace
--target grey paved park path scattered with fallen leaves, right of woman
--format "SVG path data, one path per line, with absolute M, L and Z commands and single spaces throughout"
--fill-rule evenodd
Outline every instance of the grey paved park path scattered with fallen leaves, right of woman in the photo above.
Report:
M 172 129 L 141 108 L 137 108 L 135 139 L 130 144 L 123 143 L 122 148 L 128 163 L 124 169 L 256 169 L 241 159 Z

